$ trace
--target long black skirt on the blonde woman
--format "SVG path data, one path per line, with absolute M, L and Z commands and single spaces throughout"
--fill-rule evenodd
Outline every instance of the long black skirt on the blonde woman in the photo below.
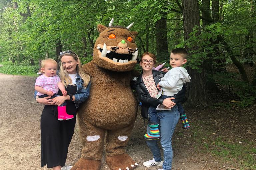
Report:
M 41 115 L 41 167 L 64 166 L 74 134 L 76 114 L 71 120 L 58 121 L 56 106 L 45 106 Z

